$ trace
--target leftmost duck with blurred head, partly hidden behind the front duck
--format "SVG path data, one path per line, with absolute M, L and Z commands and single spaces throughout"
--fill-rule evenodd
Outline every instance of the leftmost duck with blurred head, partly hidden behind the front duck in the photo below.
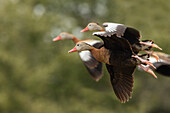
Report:
M 99 40 L 92 40 L 92 39 L 86 39 L 86 40 L 80 40 L 76 38 L 73 34 L 62 32 L 60 35 L 53 39 L 53 41 L 58 40 L 73 40 L 73 42 L 76 44 L 77 42 L 86 42 L 90 44 L 91 46 L 95 48 L 100 48 L 101 45 L 103 45 L 103 42 Z M 79 56 L 81 60 L 83 61 L 85 67 L 89 71 L 90 75 L 93 77 L 94 80 L 98 81 L 102 77 L 102 63 L 97 61 L 89 51 L 81 51 L 79 52 Z

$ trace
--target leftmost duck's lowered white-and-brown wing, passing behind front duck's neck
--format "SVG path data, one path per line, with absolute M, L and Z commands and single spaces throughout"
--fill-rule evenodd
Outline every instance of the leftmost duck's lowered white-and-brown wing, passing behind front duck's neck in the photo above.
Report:
M 103 46 L 103 42 L 100 41 L 85 41 L 86 43 L 92 45 L 95 48 L 100 48 Z M 81 51 L 79 52 L 79 56 L 81 60 L 83 61 L 86 69 L 90 73 L 90 75 L 95 79 L 96 81 L 100 80 L 100 78 L 103 76 L 103 65 L 101 62 L 97 61 L 90 51 Z

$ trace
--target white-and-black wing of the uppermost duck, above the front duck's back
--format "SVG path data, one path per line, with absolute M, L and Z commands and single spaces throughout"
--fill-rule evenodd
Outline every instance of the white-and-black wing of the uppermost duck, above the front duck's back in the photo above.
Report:
M 118 23 L 103 23 L 106 32 L 115 34 L 119 38 L 125 38 L 131 45 L 139 43 L 140 33 L 138 30 Z

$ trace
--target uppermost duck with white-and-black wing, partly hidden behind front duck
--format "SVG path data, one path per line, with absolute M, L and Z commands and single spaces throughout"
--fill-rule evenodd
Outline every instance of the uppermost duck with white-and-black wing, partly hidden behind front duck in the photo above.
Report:
M 109 35 L 115 34 L 119 38 L 125 38 L 132 45 L 133 52 L 136 54 L 139 51 L 147 52 L 152 47 L 162 50 L 159 46 L 154 44 L 152 40 L 139 41 L 141 37 L 140 32 L 123 24 L 103 23 L 103 27 L 101 27 L 98 23 L 89 23 L 85 29 L 81 30 L 81 32 L 85 31 L 103 31 L 103 33 L 108 32 Z M 155 58 L 158 60 L 156 56 Z

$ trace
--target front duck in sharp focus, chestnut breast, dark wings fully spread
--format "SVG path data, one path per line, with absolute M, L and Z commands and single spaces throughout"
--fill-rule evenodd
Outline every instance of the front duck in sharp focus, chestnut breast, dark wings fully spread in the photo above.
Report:
M 104 41 L 104 45 L 100 49 L 94 48 L 85 42 L 78 42 L 69 53 L 89 50 L 98 61 L 106 63 L 113 90 L 118 99 L 125 103 L 132 97 L 133 72 L 136 65 L 141 64 L 141 62 L 152 64 L 135 55 L 131 45 L 125 38 L 118 38 L 116 35 L 110 34 L 108 36 L 107 34 L 107 32 L 104 35 L 94 33 Z

